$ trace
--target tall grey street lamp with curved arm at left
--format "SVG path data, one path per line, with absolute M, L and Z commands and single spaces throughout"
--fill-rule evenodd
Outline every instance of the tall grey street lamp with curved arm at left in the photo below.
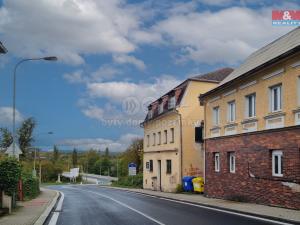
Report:
M 46 61 L 56 61 L 57 57 L 55 56 L 47 56 L 42 58 L 29 58 L 22 59 L 19 61 L 14 68 L 14 81 L 13 81 L 13 155 L 15 156 L 15 148 L 16 148 L 16 75 L 17 68 L 24 62 L 27 61 L 37 61 L 37 60 L 46 60 Z

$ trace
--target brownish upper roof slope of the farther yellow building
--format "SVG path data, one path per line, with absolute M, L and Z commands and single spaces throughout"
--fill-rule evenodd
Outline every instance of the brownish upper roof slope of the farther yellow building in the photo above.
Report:
M 232 68 L 226 67 L 206 74 L 191 77 L 190 80 L 219 83 L 224 80 L 230 73 L 232 73 L 232 71 Z

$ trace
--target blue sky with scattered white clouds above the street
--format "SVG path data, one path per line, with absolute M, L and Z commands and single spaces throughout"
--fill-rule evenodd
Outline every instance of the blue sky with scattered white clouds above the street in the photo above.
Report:
M 294 27 L 273 9 L 299 1 L 0 0 L 0 127 L 34 117 L 34 146 L 123 151 L 147 105 L 189 76 L 237 67 Z M 52 135 L 47 134 L 53 132 Z

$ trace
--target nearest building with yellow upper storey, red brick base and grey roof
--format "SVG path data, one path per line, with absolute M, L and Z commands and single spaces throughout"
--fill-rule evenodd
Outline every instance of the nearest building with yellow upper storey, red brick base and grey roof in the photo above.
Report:
M 299 209 L 300 28 L 251 54 L 200 99 L 206 194 Z

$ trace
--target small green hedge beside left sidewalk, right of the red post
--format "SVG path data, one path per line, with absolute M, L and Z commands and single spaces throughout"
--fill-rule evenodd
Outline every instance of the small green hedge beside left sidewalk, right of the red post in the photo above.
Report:
M 40 193 L 39 180 L 31 174 L 23 174 L 23 195 L 26 200 L 37 197 Z

